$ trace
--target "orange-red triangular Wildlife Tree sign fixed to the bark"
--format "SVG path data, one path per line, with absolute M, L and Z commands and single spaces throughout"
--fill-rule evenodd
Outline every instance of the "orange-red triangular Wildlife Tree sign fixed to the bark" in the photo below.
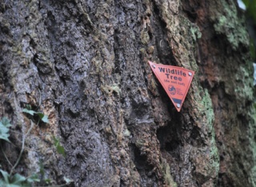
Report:
M 194 71 L 177 66 L 155 64 L 150 61 L 149 63 L 170 100 L 173 101 L 175 108 L 178 112 L 181 111 L 182 104 L 194 77 Z

